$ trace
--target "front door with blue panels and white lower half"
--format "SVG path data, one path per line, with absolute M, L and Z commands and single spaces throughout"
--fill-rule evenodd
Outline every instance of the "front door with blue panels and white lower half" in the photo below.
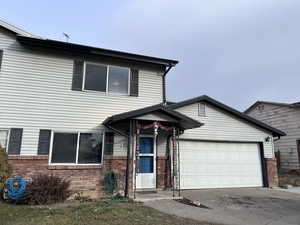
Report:
M 140 137 L 136 188 L 156 188 L 156 145 L 153 137 Z

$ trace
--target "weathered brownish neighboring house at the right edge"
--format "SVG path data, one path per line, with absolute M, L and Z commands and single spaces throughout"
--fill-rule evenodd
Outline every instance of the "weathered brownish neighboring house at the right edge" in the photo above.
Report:
M 274 142 L 275 151 L 280 155 L 280 166 L 285 169 L 299 169 L 300 102 L 286 104 L 257 101 L 245 113 L 287 134 Z

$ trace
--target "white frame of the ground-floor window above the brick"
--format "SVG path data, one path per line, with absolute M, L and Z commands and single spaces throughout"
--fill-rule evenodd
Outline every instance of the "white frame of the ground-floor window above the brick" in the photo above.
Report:
M 52 150 L 53 150 L 53 141 L 55 133 L 64 133 L 64 134 L 77 134 L 77 143 L 76 143 L 76 162 L 75 163 L 52 163 Z M 87 131 L 87 132 L 79 132 L 79 131 L 60 131 L 60 130 L 51 130 L 51 138 L 50 138 L 50 152 L 48 164 L 50 166 L 98 166 L 102 165 L 104 161 L 104 148 L 105 148 L 105 131 L 103 131 L 102 135 L 102 155 L 100 163 L 78 163 L 78 155 L 79 155 L 79 144 L 80 144 L 80 134 L 91 134 L 95 132 Z

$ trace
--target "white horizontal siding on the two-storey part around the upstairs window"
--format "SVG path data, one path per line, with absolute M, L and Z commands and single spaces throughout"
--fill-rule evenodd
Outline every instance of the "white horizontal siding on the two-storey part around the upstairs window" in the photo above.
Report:
M 100 124 L 113 114 L 162 102 L 158 72 L 139 70 L 138 97 L 72 91 L 73 58 L 25 49 L 1 28 L 0 49 L 0 128 L 23 128 L 22 155 L 37 154 L 40 129 L 104 129 Z M 116 154 L 123 155 L 124 148 L 117 145 Z

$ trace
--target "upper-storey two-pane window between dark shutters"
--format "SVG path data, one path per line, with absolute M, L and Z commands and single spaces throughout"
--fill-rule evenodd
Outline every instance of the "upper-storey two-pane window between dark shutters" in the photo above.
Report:
M 129 94 L 129 68 L 85 63 L 84 90 Z

